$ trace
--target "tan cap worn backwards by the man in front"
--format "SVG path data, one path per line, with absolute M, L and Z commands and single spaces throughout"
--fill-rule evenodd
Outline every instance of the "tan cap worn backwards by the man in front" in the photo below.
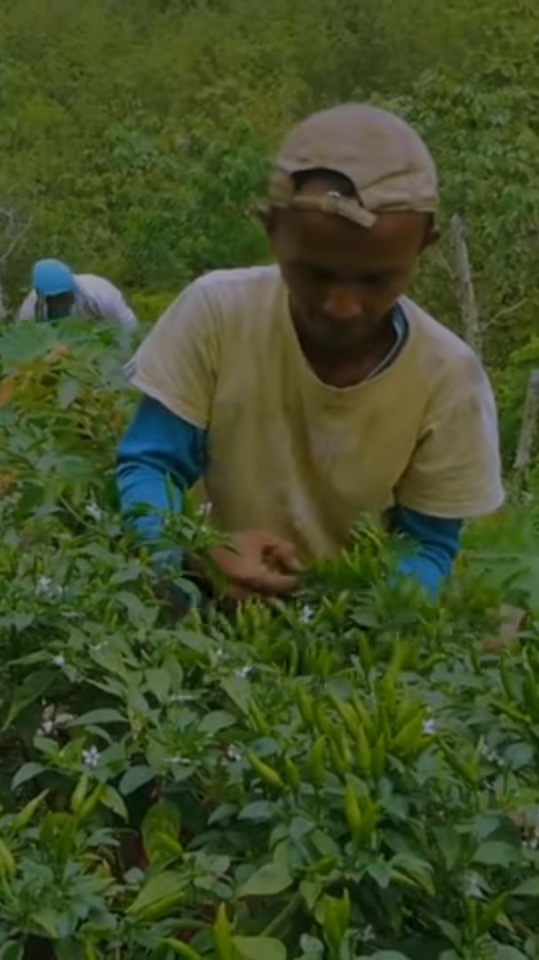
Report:
M 327 170 L 351 181 L 355 197 L 330 190 L 297 195 L 294 174 Z M 437 206 L 434 160 L 403 120 L 366 104 L 343 104 L 314 113 L 286 138 L 269 178 L 269 203 L 321 210 L 372 227 L 376 213 Z

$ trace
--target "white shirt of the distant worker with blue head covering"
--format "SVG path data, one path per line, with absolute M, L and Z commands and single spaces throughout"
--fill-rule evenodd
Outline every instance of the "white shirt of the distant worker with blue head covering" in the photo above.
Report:
M 79 274 L 74 280 L 75 303 L 70 316 L 81 320 L 113 320 L 125 330 L 136 327 L 133 311 L 113 283 L 91 274 Z M 32 290 L 19 310 L 18 320 L 35 320 L 36 303 L 37 296 Z

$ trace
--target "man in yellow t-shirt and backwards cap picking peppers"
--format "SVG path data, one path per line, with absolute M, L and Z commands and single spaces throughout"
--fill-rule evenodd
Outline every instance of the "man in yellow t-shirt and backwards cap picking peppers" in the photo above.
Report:
M 410 540 L 435 595 L 466 517 L 503 501 L 493 396 L 455 334 L 403 296 L 436 238 L 434 163 L 386 111 L 316 113 L 286 139 L 261 216 L 277 265 L 199 278 L 127 368 L 144 395 L 122 505 L 159 511 L 204 477 L 235 596 L 293 589 L 365 512 Z

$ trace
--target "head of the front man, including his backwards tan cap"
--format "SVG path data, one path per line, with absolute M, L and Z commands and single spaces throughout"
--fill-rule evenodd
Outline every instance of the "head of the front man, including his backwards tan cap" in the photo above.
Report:
M 371 338 L 435 239 L 436 205 L 434 162 L 398 117 L 347 104 L 300 123 L 263 214 L 298 332 L 336 350 Z

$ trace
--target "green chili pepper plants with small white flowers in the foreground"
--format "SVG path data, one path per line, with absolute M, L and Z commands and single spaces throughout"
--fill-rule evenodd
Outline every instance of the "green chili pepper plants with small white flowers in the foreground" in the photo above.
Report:
M 483 649 L 510 523 L 439 606 L 366 525 L 290 603 L 178 619 L 116 512 L 119 361 L 0 338 L 0 957 L 536 958 L 537 633 Z

